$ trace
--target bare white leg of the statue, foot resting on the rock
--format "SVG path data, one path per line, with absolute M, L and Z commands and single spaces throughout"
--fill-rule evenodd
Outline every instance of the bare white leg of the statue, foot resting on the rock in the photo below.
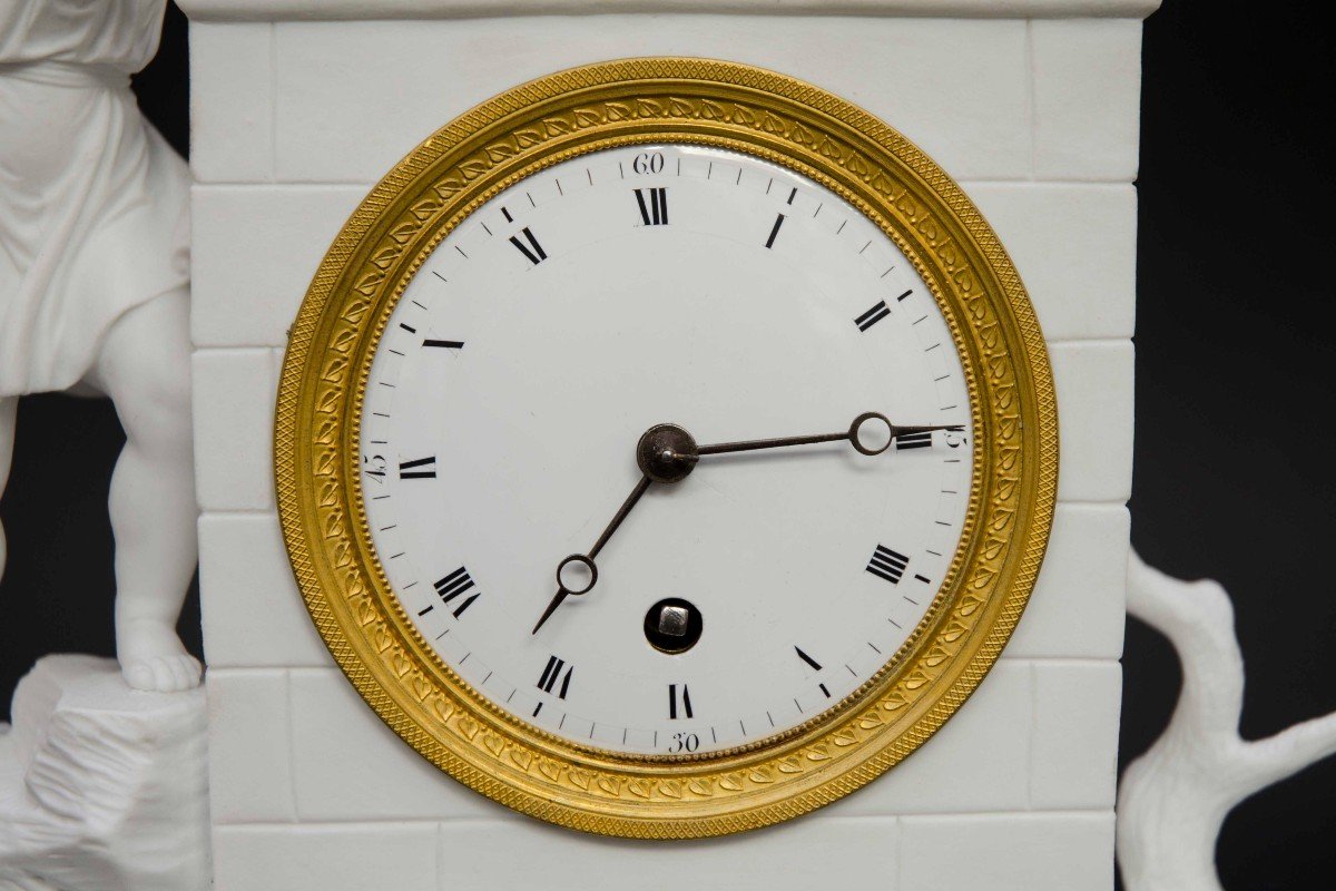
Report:
M 188 303 L 182 289 L 122 317 L 90 378 L 126 429 L 111 477 L 116 656 L 138 689 L 199 684 L 199 663 L 176 636 L 198 556 Z

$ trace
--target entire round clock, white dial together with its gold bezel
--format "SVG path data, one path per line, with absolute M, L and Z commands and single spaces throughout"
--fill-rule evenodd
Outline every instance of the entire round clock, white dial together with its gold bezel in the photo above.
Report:
M 963 701 L 1057 442 L 1019 279 L 931 160 L 787 77 L 632 60 L 382 180 L 302 307 L 277 456 L 307 605 L 401 736 L 672 838 L 818 807 Z

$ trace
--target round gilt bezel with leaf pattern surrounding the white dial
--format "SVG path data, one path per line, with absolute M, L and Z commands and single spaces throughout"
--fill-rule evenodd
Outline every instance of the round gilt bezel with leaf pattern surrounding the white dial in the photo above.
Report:
M 393 596 L 370 544 L 358 474 L 374 347 L 430 250 L 494 194 L 544 167 L 651 142 L 748 152 L 867 214 L 933 289 L 965 366 L 975 430 L 961 546 L 900 652 L 807 724 L 687 760 L 584 748 L 478 696 Z M 701 59 L 631 59 L 534 80 L 462 115 L 399 162 L 353 212 L 307 290 L 290 333 L 274 439 L 279 517 L 307 609 L 386 724 L 457 780 L 517 811 L 663 839 L 806 814 L 930 737 L 978 687 L 1025 608 L 1053 521 L 1057 469 L 1043 337 L 1011 260 L 961 188 L 898 132 L 836 96 Z

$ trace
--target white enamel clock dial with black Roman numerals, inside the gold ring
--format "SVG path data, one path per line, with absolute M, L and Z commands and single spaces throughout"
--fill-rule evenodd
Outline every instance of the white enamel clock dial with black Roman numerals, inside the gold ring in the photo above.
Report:
M 870 411 L 958 429 L 701 456 L 533 631 L 649 427 L 704 446 Z M 896 653 L 959 545 L 971 437 L 947 323 L 874 223 L 752 156 L 636 146 L 520 182 L 425 260 L 371 363 L 361 486 L 395 596 L 478 693 L 577 744 L 700 755 L 818 717 Z

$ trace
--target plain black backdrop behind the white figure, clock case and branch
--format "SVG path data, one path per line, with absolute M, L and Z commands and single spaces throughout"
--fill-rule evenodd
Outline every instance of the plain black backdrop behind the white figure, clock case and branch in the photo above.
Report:
M 1248 663 L 1242 732 L 1336 711 L 1336 545 L 1327 457 L 1336 349 L 1328 134 L 1336 55 L 1320 4 L 1168 0 L 1145 25 L 1132 538 L 1152 564 L 1212 576 L 1234 600 Z M 188 142 L 186 21 L 171 7 L 135 77 L 146 115 Z M 1092 283 L 1098 287 L 1098 283 Z M 106 401 L 25 398 L 0 501 L 0 716 L 45 652 L 112 653 L 106 500 L 124 437 Z M 192 592 L 182 633 L 199 651 Z M 1129 621 L 1121 763 L 1173 709 L 1169 644 Z M 1336 759 L 1242 804 L 1218 848 L 1224 884 L 1329 887 Z M 1316 876 L 1325 876 L 1319 879 Z

